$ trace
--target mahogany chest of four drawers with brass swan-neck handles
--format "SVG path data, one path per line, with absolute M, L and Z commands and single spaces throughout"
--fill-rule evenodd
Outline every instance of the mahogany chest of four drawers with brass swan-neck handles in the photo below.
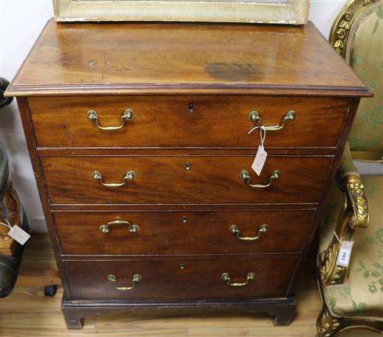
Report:
M 17 96 L 69 328 L 131 308 L 243 306 L 290 323 L 370 95 L 313 24 L 51 20 L 6 95 Z

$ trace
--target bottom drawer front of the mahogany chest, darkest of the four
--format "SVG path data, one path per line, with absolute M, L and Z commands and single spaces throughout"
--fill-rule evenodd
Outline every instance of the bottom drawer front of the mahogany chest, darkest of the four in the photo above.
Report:
M 68 261 L 72 299 L 210 299 L 225 297 L 286 297 L 296 258 L 209 258 L 192 260 Z M 233 287 L 222 279 L 227 273 Z M 134 275 L 141 280 L 132 287 Z M 108 281 L 114 275 L 116 282 Z M 250 276 L 251 278 L 251 276 Z

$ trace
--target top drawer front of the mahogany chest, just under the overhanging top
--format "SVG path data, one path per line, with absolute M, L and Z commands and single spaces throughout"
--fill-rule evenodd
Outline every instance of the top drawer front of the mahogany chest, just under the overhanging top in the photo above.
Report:
M 192 104 L 192 107 L 190 106 Z M 123 96 L 32 97 L 29 107 L 40 147 L 222 147 L 257 148 L 256 123 L 281 125 L 290 110 L 295 119 L 283 130 L 267 132 L 270 147 L 334 147 L 348 101 L 330 97 L 249 96 Z M 122 125 L 132 109 L 132 120 L 120 130 L 105 131 L 88 119 L 97 113 L 101 127 Z M 192 110 L 192 111 L 189 111 Z

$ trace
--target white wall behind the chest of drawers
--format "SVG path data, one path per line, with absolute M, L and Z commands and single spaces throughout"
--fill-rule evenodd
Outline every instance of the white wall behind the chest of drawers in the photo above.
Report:
M 310 19 L 325 38 L 346 0 L 312 0 Z M 0 76 L 13 79 L 42 27 L 53 16 L 51 0 L 0 0 Z M 42 58 L 44 56 L 42 55 Z M 15 102 L 0 110 L 0 141 L 8 148 L 15 188 L 34 232 L 45 232 L 40 198 Z

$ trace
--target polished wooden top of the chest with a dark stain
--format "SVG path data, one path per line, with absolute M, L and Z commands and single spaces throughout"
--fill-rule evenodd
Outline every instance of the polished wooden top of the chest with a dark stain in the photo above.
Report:
M 250 93 L 366 96 L 318 29 L 49 20 L 7 95 Z

